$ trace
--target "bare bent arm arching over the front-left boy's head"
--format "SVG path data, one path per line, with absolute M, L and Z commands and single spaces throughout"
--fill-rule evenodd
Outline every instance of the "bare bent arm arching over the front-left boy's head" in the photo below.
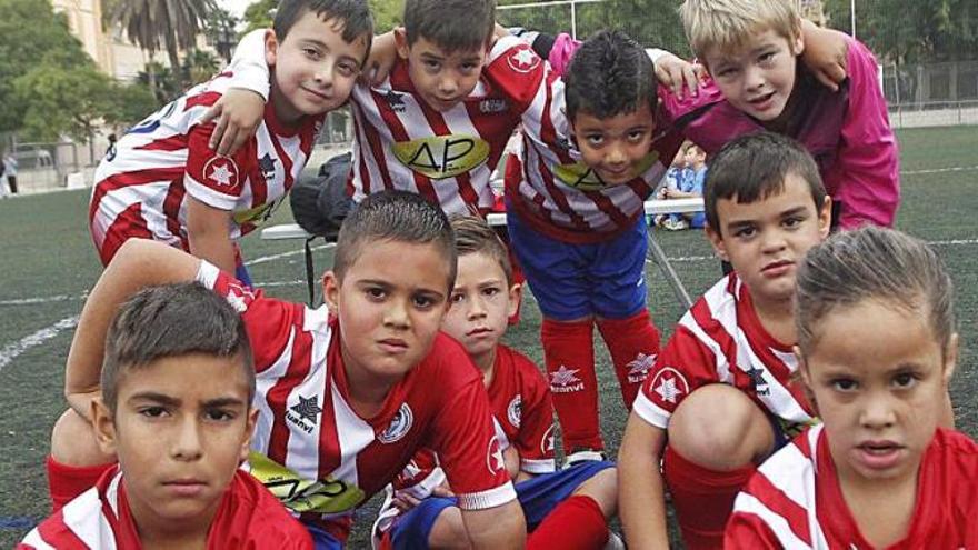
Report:
M 192 281 L 199 268 L 200 260 L 161 242 L 122 244 L 86 300 L 68 352 L 64 396 L 78 414 L 91 420 L 91 400 L 101 393 L 106 333 L 119 306 L 146 287 Z

